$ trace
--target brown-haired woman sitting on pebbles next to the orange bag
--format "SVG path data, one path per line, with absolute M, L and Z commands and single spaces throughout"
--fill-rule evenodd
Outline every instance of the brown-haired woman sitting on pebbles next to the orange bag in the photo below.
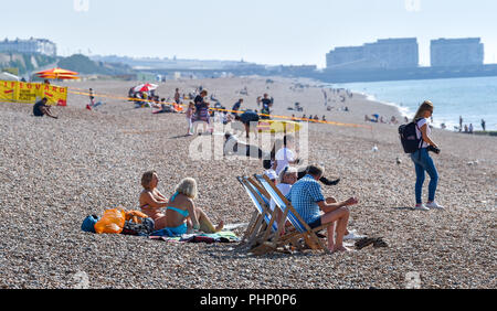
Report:
M 159 230 L 166 227 L 166 214 L 160 208 L 168 206 L 168 200 L 158 190 L 159 178 L 155 171 L 144 173 L 141 185 L 144 191 L 140 193 L 140 208 L 148 217 L 155 222 L 155 229 Z

